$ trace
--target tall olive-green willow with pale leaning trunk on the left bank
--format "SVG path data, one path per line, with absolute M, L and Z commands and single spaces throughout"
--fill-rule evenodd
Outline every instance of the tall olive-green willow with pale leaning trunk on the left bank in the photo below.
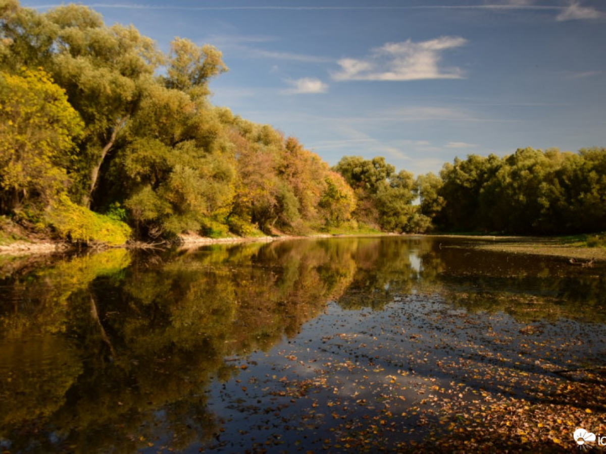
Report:
M 87 7 L 61 6 L 46 18 L 58 30 L 53 74 L 87 125 L 82 203 L 90 206 L 99 170 L 153 85 L 163 57 L 135 27 L 107 27 Z

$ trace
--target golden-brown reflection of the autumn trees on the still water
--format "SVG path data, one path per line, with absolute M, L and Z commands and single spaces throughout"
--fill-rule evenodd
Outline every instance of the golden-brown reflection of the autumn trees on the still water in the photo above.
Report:
M 126 251 L 13 269 L 0 281 L 0 447 L 182 450 L 221 430 L 208 387 L 325 310 L 439 294 L 521 321 L 604 322 L 602 268 L 369 237 Z M 196 445 L 196 446 L 198 446 Z

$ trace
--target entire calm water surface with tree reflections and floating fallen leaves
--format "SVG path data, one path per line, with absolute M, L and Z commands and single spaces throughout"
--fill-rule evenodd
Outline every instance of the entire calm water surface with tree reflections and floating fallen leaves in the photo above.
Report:
M 568 432 L 583 424 L 606 435 L 589 427 L 604 399 L 567 391 L 604 390 L 602 375 L 578 374 L 606 364 L 606 269 L 480 241 L 112 249 L 13 266 L 0 281 L 0 448 L 481 452 L 493 435 L 535 450 L 576 449 Z

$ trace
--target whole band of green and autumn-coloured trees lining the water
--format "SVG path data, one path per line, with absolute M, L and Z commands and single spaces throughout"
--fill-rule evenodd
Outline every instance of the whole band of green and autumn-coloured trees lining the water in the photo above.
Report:
M 606 231 L 606 148 L 470 155 L 439 175 L 331 168 L 211 104 L 221 51 L 68 4 L 0 0 L 0 229 L 75 243 L 359 232 Z M 378 150 L 380 154 L 381 151 Z

